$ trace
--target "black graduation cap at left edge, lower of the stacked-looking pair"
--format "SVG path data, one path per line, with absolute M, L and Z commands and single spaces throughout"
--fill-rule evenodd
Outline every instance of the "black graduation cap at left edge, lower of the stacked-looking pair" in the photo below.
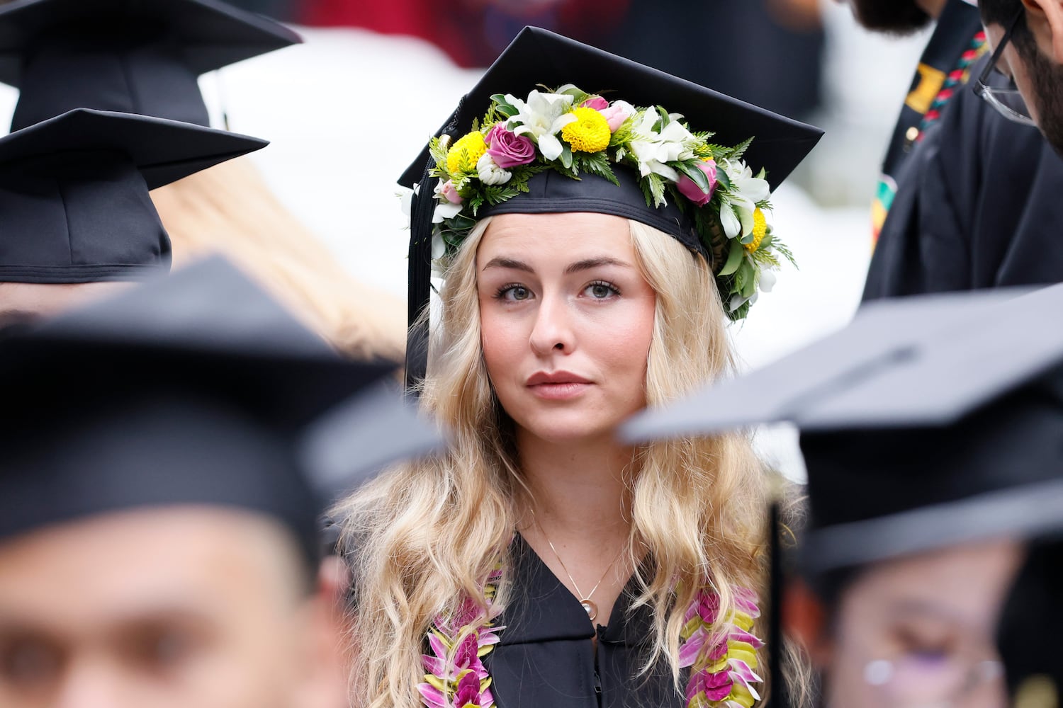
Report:
M 169 267 L 148 190 L 268 143 L 79 108 L 0 138 L 0 281 L 88 282 Z

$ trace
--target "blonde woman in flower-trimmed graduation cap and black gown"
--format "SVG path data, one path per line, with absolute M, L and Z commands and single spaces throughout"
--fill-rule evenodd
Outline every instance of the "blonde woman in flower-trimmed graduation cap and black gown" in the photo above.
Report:
M 558 68 L 533 76 L 541 55 Z M 636 108 L 647 89 L 686 118 Z M 433 141 L 411 273 L 435 222 L 445 273 L 420 391 L 454 444 L 337 510 L 354 705 L 758 701 L 766 480 L 747 439 L 613 437 L 730 368 L 725 327 L 786 254 L 739 129 L 784 148 L 745 155 L 779 178 L 819 137 L 525 30 L 456 111 L 457 139 Z

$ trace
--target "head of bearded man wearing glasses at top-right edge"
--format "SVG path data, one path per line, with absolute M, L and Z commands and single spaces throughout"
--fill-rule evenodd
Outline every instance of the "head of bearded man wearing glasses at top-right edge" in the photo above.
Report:
M 1007 118 L 1036 124 L 1063 153 L 1063 2 L 981 0 L 978 8 L 996 48 L 980 92 Z M 994 69 L 1013 86 L 990 86 Z

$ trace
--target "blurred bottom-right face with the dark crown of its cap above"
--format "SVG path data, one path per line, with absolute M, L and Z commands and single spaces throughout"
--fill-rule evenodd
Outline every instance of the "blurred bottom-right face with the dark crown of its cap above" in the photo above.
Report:
M 1063 378 L 946 427 L 804 432 L 796 623 L 825 705 L 1008 705 L 996 651 L 1023 539 L 1063 516 Z

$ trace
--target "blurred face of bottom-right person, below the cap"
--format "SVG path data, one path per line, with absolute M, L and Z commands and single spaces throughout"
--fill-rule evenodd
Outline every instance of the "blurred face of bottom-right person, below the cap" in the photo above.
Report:
M 793 590 L 824 705 L 1003 708 L 994 633 L 1023 555 L 1016 541 L 967 543 L 839 571 L 814 593 Z

